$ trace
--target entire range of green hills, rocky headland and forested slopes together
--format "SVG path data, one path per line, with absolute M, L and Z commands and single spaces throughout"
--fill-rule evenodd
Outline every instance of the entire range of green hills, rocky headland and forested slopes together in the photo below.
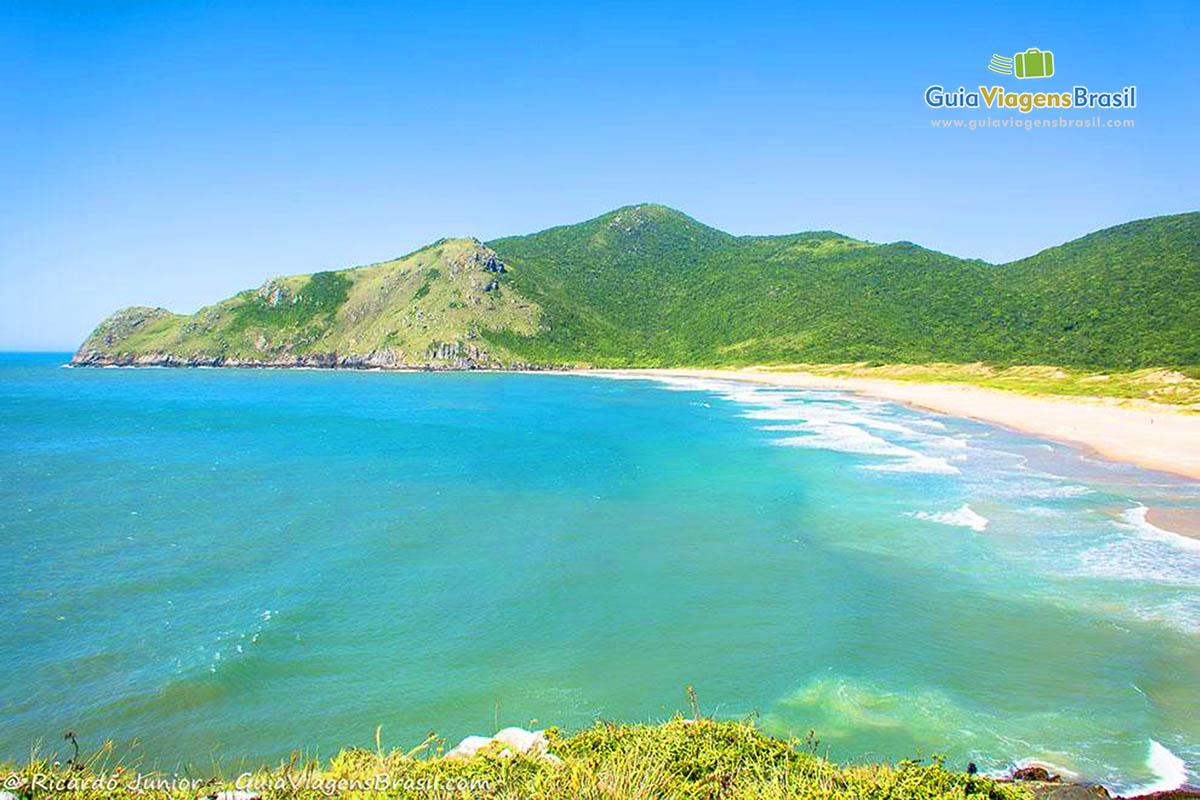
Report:
M 733 236 L 660 205 L 126 309 L 77 363 L 1200 365 L 1200 213 L 1003 265 L 832 231 Z

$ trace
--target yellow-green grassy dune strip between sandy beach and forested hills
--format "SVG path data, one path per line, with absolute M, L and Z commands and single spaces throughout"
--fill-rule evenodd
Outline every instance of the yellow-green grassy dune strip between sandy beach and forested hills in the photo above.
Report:
M 1139 369 L 1097 373 L 1050 366 L 994 367 L 984 363 L 797 363 L 766 372 L 811 372 L 833 378 L 881 378 L 917 383 L 972 384 L 1024 395 L 1064 395 L 1145 401 L 1200 411 L 1200 371 Z

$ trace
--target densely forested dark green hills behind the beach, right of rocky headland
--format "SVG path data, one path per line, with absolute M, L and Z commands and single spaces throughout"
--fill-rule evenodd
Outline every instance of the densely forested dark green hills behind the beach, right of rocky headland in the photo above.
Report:
M 656 205 L 488 242 L 544 309 L 529 360 L 1200 365 L 1200 213 L 991 265 L 834 233 L 732 236 Z

